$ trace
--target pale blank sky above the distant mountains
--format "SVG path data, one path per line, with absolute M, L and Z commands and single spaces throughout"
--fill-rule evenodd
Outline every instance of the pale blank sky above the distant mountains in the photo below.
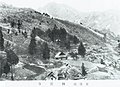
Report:
M 16 7 L 38 9 L 50 2 L 63 3 L 80 11 L 120 10 L 120 0 L 0 0 Z

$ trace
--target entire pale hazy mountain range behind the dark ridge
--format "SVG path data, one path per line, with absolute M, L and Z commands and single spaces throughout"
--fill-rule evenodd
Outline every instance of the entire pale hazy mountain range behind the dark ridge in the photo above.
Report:
M 104 11 L 104 12 L 79 12 L 64 4 L 49 3 L 39 9 L 47 12 L 55 18 L 68 20 L 74 23 L 82 23 L 91 29 L 110 30 L 115 35 L 120 34 L 120 11 Z

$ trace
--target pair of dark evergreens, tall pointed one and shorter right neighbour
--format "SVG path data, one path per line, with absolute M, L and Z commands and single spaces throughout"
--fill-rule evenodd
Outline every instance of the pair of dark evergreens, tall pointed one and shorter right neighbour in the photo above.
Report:
M 31 32 L 31 41 L 28 47 L 28 52 L 30 55 L 42 55 L 43 59 L 49 59 L 50 58 L 50 48 L 48 47 L 48 44 L 44 42 L 42 45 L 39 43 L 36 43 L 36 29 L 34 28 Z M 41 46 L 41 47 L 40 47 Z

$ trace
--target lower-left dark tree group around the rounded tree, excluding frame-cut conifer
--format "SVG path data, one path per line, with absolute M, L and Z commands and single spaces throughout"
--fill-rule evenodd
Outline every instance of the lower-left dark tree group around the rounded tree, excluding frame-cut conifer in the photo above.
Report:
M 5 44 L 4 51 L 6 52 L 7 58 L 5 60 L 3 60 L 3 62 L 1 63 L 1 65 L 2 65 L 1 75 L 2 75 L 2 73 L 5 73 L 6 77 L 7 77 L 7 74 L 11 73 L 11 80 L 14 80 L 12 66 L 16 65 L 19 62 L 19 58 L 14 53 L 14 51 L 11 49 L 11 44 L 8 41 Z

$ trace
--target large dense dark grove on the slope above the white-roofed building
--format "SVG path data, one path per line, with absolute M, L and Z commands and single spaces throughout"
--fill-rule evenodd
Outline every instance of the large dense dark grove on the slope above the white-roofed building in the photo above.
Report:
M 72 36 L 68 34 L 65 28 L 60 27 L 60 29 L 58 29 L 57 25 L 54 25 L 51 30 L 48 29 L 46 34 L 51 41 L 57 42 L 60 46 L 66 47 L 67 49 L 70 49 L 71 42 L 73 42 L 73 44 L 79 43 L 79 39 L 75 35 Z

